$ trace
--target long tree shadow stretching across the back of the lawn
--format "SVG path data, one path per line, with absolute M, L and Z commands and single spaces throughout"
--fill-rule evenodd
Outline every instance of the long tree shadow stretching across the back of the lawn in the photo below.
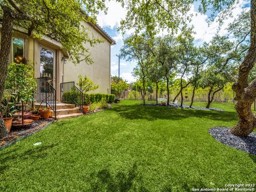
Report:
M 120 105 L 114 107 L 112 110 L 127 119 L 147 119 L 148 121 L 154 121 L 155 119 L 179 120 L 189 117 L 208 118 L 215 121 L 237 120 L 236 113 L 230 111 L 208 111 L 142 105 Z

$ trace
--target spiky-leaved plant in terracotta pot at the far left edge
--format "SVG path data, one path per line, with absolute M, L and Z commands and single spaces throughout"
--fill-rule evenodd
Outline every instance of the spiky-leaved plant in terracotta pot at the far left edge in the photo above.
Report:
M 12 115 L 17 111 L 15 109 L 14 103 L 10 102 L 11 97 L 13 97 L 7 90 L 4 91 L 4 98 L 0 106 L 0 117 L 3 118 L 4 124 L 8 132 L 11 132 L 12 127 Z

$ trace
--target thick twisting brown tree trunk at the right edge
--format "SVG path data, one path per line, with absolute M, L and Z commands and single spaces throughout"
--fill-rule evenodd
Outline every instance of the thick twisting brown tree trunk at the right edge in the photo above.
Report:
M 256 98 L 256 79 L 248 85 L 249 72 L 256 61 L 256 0 L 251 0 L 251 45 L 242 64 L 239 66 L 238 81 L 232 86 L 236 92 L 238 124 L 230 132 L 237 136 L 249 135 L 256 126 L 256 118 L 251 105 Z

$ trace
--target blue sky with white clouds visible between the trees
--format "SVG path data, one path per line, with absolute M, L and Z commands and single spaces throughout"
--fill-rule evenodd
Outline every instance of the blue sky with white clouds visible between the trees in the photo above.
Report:
M 111 75 L 118 76 L 118 57 L 119 50 L 123 46 L 123 36 L 117 27 L 120 26 L 121 19 L 125 18 L 126 9 L 124 9 L 120 3 L 115 1 L 107 2 L 108 12 L 105 15 L 103 12 L 100 12 L 98 15 L 98 25 L 101 26 L 115 41 L 116 45 L 111 46 Z M 247 0 L 241 0 L 235 9 L 232 10 L 233 17 L 225 20 L 222 27 L 219 30 L 219 35 L 227 35 L 227 26 L 232 22 L 243 9 L 248 8 Z M 210 42 L 212 37 L 217 33 L 219 23 L 217 18 L 210 23 L 207 23 L 207 18 L 209 13 L 201 14 L 198 12 L 198 3 L 195 3 L 191 6 L 189 14 L 193 14 L 192 20 L 188 25 L 194 26 L 195 44 L 201 45 L 203 42 Z M 133 30 L 126 31 L 124 38 L 131 35 Z M 162 34 L 166 34 L 164 31 Z M 120 60 L 120 76 L 125 79 L 128 83 L 136 81 L 135 77 L 132 76 L 132 70 L 135 67 L 135 61 L 125 61 Z

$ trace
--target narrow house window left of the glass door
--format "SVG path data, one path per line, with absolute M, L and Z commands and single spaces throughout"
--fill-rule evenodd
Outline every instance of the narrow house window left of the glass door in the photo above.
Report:
M 13 38 L 13 61 L 20 63 L 24 57 L 24 39 Z

